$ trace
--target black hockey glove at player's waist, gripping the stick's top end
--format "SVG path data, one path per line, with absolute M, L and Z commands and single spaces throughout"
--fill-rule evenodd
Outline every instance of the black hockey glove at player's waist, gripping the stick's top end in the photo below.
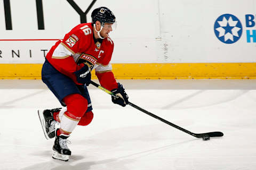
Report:
M 86 84 L 86 86 L 89 86 L 91 82 L 91 72 L 89 67 L 85 64 L 82 69 L 74 72 L 76 75 L 76 80 L 78 83 Z

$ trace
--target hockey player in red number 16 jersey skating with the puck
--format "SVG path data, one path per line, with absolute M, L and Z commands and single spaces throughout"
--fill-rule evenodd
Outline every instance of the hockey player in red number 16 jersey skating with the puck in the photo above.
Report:
M 59 40 L 46 55 L 42 80 L 58 98 L 63 108 L 38 111 L 46 139 L 54 138 L 55 159 L 69 159 L 71 151 L 67 139 L 77 125 L 88 125 L 93 118 L 92 105 L 86 86 L 91 82 L 91 71 L 101 86 L 111 90 L 115 104 L 126 106 L 128 96 L 111 71 L 114 43 L 109 32 L 115 27 L 115 15 L 107 7 L 92 12 L 92 23 L 82 23 Z M 60 123 L 59 129 L 55 125 Z

